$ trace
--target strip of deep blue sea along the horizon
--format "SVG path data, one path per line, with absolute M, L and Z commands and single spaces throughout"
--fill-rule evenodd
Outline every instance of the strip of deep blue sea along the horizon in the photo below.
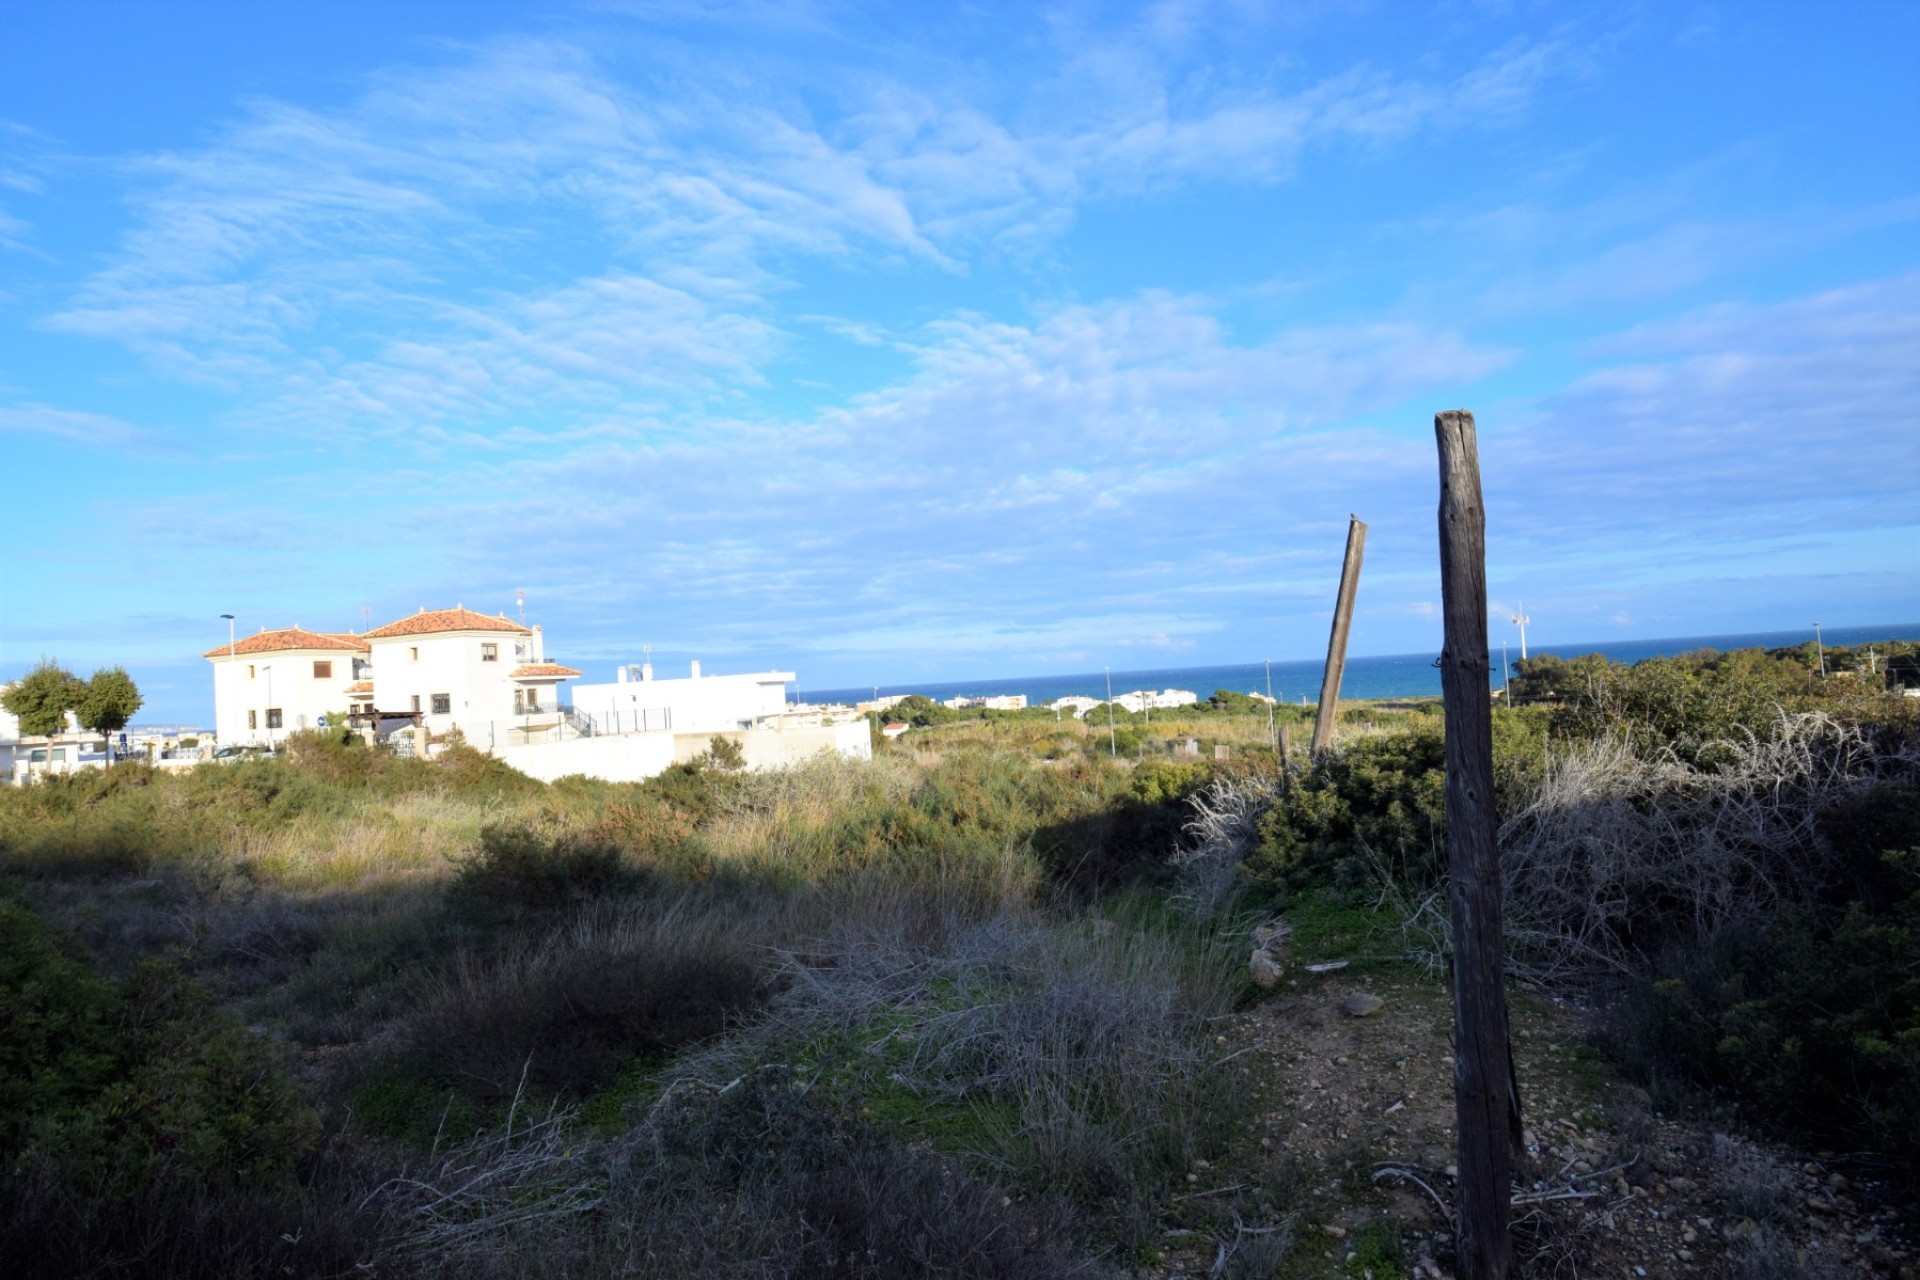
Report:
M 1920 622 L 1870 628 L 1826 628 L 1822 637 L 1828 645 L 1853 647 L 1872 645 L 1889 639 L 1920 639 Z M 1805 645 L 1812 639 L 1811 629 L 1799 631 L 1753 631 L 1749 635 L 1682 635 L 1674 639 L 1645 641 L 1605 641 L 1596 645 L 1530 645 L 1530 654 L 1551 652 L 1561 658 L 1574 658 L 1584 652 L 1599 652 L 1615 662 L 1640 662 L 1642 658 L 1667 658 L 1695 649 L 1782 649 Z M 1438 652 L 1404 652 L 1369 658 L 1348 658 L 1346 679 L 1340 681 L 1342 699 L 1436 699 L 1440 697 L 1440 668 L 1434 666 Z M 1509 658 L 1519 658 L 1519 645 L 1509 645 Z M 1492 687 L 1503 679 L 1500 674 L 1500 647 L 1494 647 Z M 1311 702 L 1319 697 L 1323 658 L 1308 662 L 1273 664 L 1273 697 L 1283 702 Z M 1008 676 L 1004 679 L 966 679 L 952 683 L 914 683 L 879 685 L 879 693 L 922 693 L 943 700 L 952 697 L 993 697 L 1004 693 L 1025 693 L 1029 704 L 1052 702 L 1068 695 L 1106 699 L 1106 674 L 1087 672 L 1081 676 Z M 1260 662 L 1240 662 L 1235 666 L 1173 666 L 1114 672 L 1114 693 L 1131 689 L 1192 689 L 1202 699 L 1215 689 L 1235 693 L 1265 693 L 1267 668 Z M 874 685 L 858 689 L 806 689 L 791 695 L 797 702 L 866 702 L 874 697 Z

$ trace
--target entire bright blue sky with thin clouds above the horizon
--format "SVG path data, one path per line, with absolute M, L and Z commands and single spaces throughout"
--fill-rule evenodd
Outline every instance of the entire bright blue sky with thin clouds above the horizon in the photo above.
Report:
M 0 676 L 1920 616 L 1920 6 L 0 6 Z M 1496 628 L 1496 641 L 1501 628 Z

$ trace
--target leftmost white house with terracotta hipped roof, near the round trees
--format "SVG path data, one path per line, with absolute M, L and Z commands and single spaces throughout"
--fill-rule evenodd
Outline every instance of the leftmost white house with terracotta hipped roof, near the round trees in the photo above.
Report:
M 213 735 L 223 745 L 271 747 L 346 712 L 369 651 L 351 631 L 292 626 L 240 635 L 202 656 L 213 662 Z

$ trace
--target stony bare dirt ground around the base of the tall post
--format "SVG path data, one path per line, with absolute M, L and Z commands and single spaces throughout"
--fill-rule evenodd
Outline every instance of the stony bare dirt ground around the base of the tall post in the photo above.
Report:
M 1277 956 L 1273 994 L 1221 1027 L 1263 1119 L 1242 1159 L 1190 1176 L 1196 1196 L 1231 1194 L 1284 1167 L 1292 1222 L 1242 1222 L 1235 1244 L 1248 1247 L 1225 1251 L 1173 1240 L 1156 1274 L 1453 1274 L 1444 981 L 1392 960 L 1306 967 L 1340 950 L 1332 935 Z M 1526 1115 L 1519 1274 L 1920 1280 L 1914 1205 L 1855 1163 L 1657 1117 L 1592 1055 L 1574 1009 L 1515 990 L 1511 1011 Z M 1284 1257 L 1256 1247 L 1281 1232 Z

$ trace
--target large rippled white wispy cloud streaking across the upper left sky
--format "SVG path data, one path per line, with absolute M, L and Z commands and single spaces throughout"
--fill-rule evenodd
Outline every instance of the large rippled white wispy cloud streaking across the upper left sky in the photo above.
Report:
M 1511 46 L 1452 83 L 1361 67 L 1192 96 L 1108 50 L 1004 111 L 964 83 L 858 71 L 816 119 L 689 54 L 616 75 L 578 46 L 495 40 L 384 71 L 340 109 L 255 100 L 211 146 L 136 161 L 123 251 L 48 324 L 348 420 L 486 420 L 563 384 L 753 386 L 793 255 L 958 271 L 1043 244 L 1089 198 L 1271 182 L 1315 140 L 1482 119 L 1559 59 Z M 553 317 L 572 307 L 568 330 Z M 632 347 L 624 372 L 609 344 Z

